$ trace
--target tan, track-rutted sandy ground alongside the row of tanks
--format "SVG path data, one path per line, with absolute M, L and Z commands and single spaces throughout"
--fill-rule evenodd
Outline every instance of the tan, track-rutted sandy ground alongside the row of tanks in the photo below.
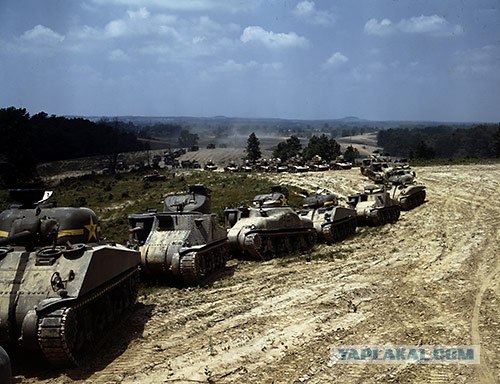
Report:
M 500 165 L 417 169 L 428 201 L 309 257 L 231 260 L 204 287 L 148 287 L 85 367 L 16 383 L 498 383 Z M 358 169 L 273 175 L 342 195 Z M 310 261 L 307 261 L 310 259 Z M 340 345 L 481 346 L 480 365 L 335 365 Z

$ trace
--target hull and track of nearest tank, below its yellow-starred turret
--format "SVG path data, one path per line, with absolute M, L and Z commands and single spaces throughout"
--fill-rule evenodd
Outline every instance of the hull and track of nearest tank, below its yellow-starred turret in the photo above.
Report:
M 0 343 L 74 366 L 137 297 L 139 253 L 76 244 L 0 248 Z

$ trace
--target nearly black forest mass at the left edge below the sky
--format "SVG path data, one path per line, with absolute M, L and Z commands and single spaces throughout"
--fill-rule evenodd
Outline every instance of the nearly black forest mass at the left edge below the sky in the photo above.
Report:
M 30 117 L 24 108 L 0 109 L 0 184 L 23 184 L 40 162 L 110 155 L 145 149 L 135 133 L 118 121 L 82 118 Z M 113 159 L 111 159 L 112 161 Z

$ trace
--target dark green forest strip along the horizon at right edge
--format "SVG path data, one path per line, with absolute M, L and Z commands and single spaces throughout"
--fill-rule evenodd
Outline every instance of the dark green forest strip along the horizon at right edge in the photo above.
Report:
M 378 145 L 393 156 L 414 159 L 500 157 L 500 124 L 387 129 L 378 132 Z

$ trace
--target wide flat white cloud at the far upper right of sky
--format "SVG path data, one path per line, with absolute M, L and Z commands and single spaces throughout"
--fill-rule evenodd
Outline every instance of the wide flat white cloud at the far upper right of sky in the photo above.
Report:
M 427 34 L 431 36 L 453 36 L 461 35 L 464 30 L 461 25 L 452 25 L 445 18 L 438 15 L 416 16 L 410 19 L 402 19 L 393 23 L 389 19 L 370 19 L 364 27 L 368 35 L 385 36 L 392 33 Z

